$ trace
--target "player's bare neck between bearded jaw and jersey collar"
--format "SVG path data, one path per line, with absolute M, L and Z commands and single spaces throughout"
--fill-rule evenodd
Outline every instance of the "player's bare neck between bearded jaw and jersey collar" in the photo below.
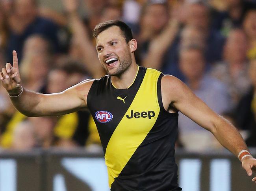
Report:
M 130 87 L 137 76 L 138 69 L 138 65 L 132 62 L 130 67 L 121 76 L 111 76 L 112 85 L 117 89 Z

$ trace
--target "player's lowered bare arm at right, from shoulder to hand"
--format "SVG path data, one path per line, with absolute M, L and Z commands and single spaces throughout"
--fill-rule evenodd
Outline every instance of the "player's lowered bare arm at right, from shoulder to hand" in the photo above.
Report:
M 178 109 L 198 125 L 213 133 L 217 140 L 235 156 L 238 156 L 242 150 L 248 150 L 236 127 L 213 112 L 183 82 L 174 76 L 165 75 L 161 80 L 161 91 L 163 106 L 167 111 L 170 106 Z M 251 176 L 252 170 L 256 169 L 256 159 L 246 156 L 241 162 L 247 174 Z M 252 181 L 256 182 L 256 177 Z

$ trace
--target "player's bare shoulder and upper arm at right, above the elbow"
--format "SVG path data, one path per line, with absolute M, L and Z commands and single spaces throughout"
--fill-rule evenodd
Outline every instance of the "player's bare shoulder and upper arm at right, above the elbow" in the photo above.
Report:
M 214 131 L 214 124 L 219 120 L 219 116 L 198 98 L 186 84 L 174 76 L 165 76 L 161 85 L 163 85 L 165 100 L 171 106 L 178 109 L 198 125 L 211 132 Z

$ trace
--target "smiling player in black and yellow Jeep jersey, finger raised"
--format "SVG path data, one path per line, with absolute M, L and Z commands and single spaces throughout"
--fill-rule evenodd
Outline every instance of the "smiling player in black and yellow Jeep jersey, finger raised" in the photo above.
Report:
M 28 116 L 63 115 L 88 106 L 100 135 L 111 191 L 180 191 L 174 143 L 178 111 L 213 135 L 242 162 L 248 175 L 256 166 L 243 139 L 177 78 L 136 64 L 137 42 L 121 21 L 95 27 L 96 50 L 108 72 L 50 95 L 21 86 L 17 54 L 0 80 L 15 107 Z M 252 179 L 256 181 L 256 177 Z

